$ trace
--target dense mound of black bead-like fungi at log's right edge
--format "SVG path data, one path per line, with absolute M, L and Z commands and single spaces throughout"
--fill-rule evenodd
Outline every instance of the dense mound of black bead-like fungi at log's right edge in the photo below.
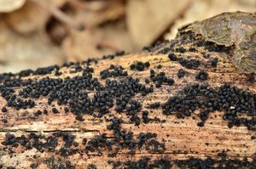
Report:
M 202 127 L 208 115 L 215 111 L 224 111 L 223 119 L 228 126 L 246 126 L 248 130 L 256 130 L 255 95 L 230 85 L 222 85 L 216 89 L 207 84 L 193 84 L 184 87 L 183 96 L 174 95 L 162 104 L 163 114 L 190 116 L 195 110 L 201 110 Z M 238 114 L 246 114 L 252 118 L 243 118 Z

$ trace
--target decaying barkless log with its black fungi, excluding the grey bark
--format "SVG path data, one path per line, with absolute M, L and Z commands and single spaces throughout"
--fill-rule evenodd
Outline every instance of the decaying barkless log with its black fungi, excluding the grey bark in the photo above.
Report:
M 255 168 L 256 86 L 234 50 L 188 31 L 2 74 L 0 168 Z

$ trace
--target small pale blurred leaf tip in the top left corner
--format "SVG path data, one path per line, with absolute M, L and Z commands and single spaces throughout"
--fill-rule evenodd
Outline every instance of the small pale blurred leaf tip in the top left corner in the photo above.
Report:
M 9 13 L 21 8 L 26 0 L 0 0 L 0 12 Z

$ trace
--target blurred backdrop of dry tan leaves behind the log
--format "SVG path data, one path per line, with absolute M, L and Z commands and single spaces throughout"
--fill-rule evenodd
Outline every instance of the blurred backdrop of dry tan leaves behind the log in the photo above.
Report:
M 237 10 L 255 12 L 256 0 L 0 0 L 0 73 L 136 52 Z

